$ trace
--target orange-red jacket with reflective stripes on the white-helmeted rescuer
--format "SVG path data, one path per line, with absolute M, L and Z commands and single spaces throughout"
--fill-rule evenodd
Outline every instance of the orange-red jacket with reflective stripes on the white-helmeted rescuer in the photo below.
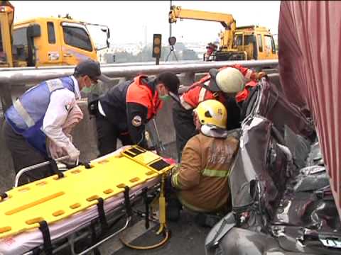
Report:
M 240 64 L 233 64 L 231 67 L 238 69 L 244 75 L 246 80 L 254 80 L 256 79 L 256 72 L 253 72 L 251 69 L 242 67 Z M 220 70 L 226 67 L 222 67 Z M 224 96 L 222 92 L 214 93 L 209 91 L 207 87 L 203 86 L 206 81 L 210 81 L 210 74 L 207 74 L 205 77 L 202 77 L 200 81 L 195 82 L 188 91 L 186 91 L 182 96 L 180 96 L 180 103 L 183 108 L 186 110 L 194 109 L 197 107 L 199 103 L 205 101 L 207 99 L 216 99 L 222 103 L 224 103 Z

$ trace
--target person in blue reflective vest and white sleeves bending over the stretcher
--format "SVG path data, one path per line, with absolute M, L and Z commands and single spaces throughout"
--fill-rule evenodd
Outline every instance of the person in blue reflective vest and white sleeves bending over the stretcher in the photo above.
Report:
M 50 157 L 48 137 L 77 162 L 80 151 L 63 132 L 68 113 L 80 98 L 80 90 L 102 79 L 99 62 L 85 60 L 70 77 L 50 79 L 26 91 L 5 113 L 4 137 L 13 158 L 16 173 L 26 166 L 45 162 Z M 19 184 L 45 178 L 50 166 L 28 171 Z

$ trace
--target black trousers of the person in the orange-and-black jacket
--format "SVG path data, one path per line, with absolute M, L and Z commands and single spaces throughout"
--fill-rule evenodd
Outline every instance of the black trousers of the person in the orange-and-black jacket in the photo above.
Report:
M 116 125 L 99 113 L 95 117 L 99 156 L 114 152 L 117 149 L 117 139 L 121 140 L 122 145 L 133 145 L 129 132 L 120 132 Z

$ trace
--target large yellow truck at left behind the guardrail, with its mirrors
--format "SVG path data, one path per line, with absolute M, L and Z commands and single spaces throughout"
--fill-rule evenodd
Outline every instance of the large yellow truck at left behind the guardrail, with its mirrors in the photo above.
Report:
M 0 1 L 0 67 L 75 65 L 80 60 L 97 60 L 97 51 L 109 47 L 109 28 L 63 18 L 31 18 L 13 24 L 14 6 Z M 94 44 L 89 27 L 105 35 Z M 101 37 L 104 38 L 104 37 Z

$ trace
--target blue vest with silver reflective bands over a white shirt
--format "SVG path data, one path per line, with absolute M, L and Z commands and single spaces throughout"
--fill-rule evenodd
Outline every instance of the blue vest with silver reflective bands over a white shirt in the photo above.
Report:
M 39 152 L 48 156 L 46 135 L 43 132 L 45 117 L 50 95 L 58 89 L 68 89 L 75 92 L 75 84 L 71 77 L 51 79 L 28 89 L 6 111 L 6 122 L 13 130 L 26 138 L 27 142 Z

